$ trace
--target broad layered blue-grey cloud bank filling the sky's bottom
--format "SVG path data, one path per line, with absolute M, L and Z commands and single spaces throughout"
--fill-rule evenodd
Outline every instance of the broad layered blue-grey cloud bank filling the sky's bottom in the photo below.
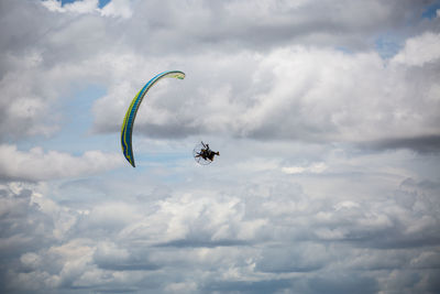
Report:
M 263 285 L 320 293 L 362 284 L 370 292 L 398 290 L 408 275 L 408 288 L 437 288 L 439 183 L 406 179 L 388 192 L 395 193 L 391 198 L 371 196 L 376 188 L 370 186 L 370 197 L 353 203 L 350 193 L 317 198 L 273 181 L 268 195 L 255 179 L 256 188 L 230 196 L 224 189 L 175 189 L 146 202 L 102 198 L 86 210 L 51 202 L 42 186 L 3 185 L 1 226 L 22 228 L 1 238 L 3 252 L 14 248 L 7 263 L 13 266 L 1 271 L 3 288 L 209 293 Z

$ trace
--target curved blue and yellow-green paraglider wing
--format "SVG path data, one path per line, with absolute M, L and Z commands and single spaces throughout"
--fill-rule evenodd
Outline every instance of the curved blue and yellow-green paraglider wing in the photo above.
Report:
M 130 162 L 130 164 L 133 167 L 135 167 L 135 165 L 133 157 L 133 148 L 131 144 L 131 135 L 133 133 L 134 119 L 136 118 L 138 109 L 141 106 L 141 102 L 144 99 L 146 92 L 150 90 L 150 88 L 164 77 L 174 77 L 178 79 L 184 79 L 185 74 L 179 70 L 169 70 L 153 77 L 152 79 L 150 79 L 148 83 L 145 84 L 145 86 L 138 92 L 138 95 L 134 96 L 129 107 L 129 110 L 127 110 L 125 118 L 121 129 L 121 144 L 122 144 L 122 152 L 125 159 Z

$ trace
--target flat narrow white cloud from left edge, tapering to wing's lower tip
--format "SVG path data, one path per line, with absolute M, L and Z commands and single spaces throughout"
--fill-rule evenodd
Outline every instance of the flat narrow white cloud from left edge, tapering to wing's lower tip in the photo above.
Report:
M 78 177 L 108 171 L 121 164 L 120 156 L 100 151 L 87 151 L 82 156 L 72 156 L 57 151 L 44 152 L 41 148 L 23 152 L 15 145 L 0 145 L 2 179 L 47 181 Z

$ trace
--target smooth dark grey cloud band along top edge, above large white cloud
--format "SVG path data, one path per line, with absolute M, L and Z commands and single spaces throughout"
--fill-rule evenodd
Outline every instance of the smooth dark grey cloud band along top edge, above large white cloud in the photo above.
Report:
M 425 8 L 433 1 L 223 1 L 142 3 L 133 14 L 133 25 L 142 30 L 128 32 L 129 42 L 148 47 L 152 53 L 169 51 L 174 45 L 185 51 L 197 46 L 242 46 L 266 50 L 300 43 L 371 50 L 374 39 L 394 31 L 404 33 L 406 23 L 419 23 Z M 408 13 L 411 11 L 411 13 Z M 386 29 L 385 29 L 386 28 Z M 156 33 L 157 32 L 157 33 Z M 151 39 L 144 39 L 148 34 Z M 166 44 L 161 46 L 158 44 Z M 197 44 L 195 46 L 195 44 Z M 167 45 L 168 48 L 167 48 Z

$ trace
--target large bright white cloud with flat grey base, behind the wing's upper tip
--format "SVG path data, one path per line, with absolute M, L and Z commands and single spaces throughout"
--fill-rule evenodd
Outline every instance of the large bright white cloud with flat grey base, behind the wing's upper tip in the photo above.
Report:
M 430 69 L 422 73 L 394 62 L 386 65 L 374 53 L 346 55 L 294 46 L 266 55 L 219 55 L 221 63 L 210 63 L 209 73 L 216 73 L 212 77 L 202 66 L 212 57 L 189 56 L 178 66 L 188 68 L 185 80 L 167 81 L 151 90 L 136 118 L 138 134 L 182 138 L 221 133 L 365 145 L 393 141 L 402 143 L 396 148 L 414 149 L 417 143 L 404 143 L 438 135 L 439 118 L 433 109 L 439 85 L 427 76 Z M 130 59 L 147 62 L 142 56 Z M 402 87 L 394 87 L 396 84 Z M 119 130 L 111 117 L 123 117 L 132 99 L 128 94 L 136 92 L 131 85 L 120 83 L 96 102 L 97 131 Z

